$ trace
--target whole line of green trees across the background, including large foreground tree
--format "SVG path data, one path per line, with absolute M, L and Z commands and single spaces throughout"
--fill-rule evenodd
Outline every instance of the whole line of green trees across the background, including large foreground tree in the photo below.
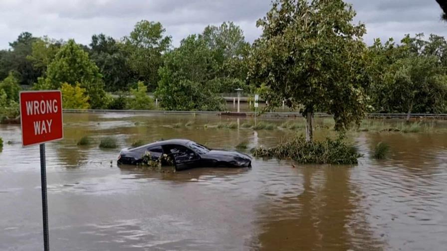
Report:
M 69 108 L 150 109 L 144 95 L 131 102 L 108 94 L 150 91 L 166 110 L 218 111 L 219 93 L 242 88 L 269 109 L 285 100 L 309 123 L 315 112 L 333 114 L 338 129 L 366 112 L 446 113 L 446 39 L 421 33 L 368 46 L 355 15 L 342 0 L 275 0 L 252 44 L 224 22 L 176 48 L 160 22 L 147 20 L 119 39 L 95 34 L 88 45 L 23 32 L 0 51 L 0 105 L 15 107 L 25 85 L 61 89 Z

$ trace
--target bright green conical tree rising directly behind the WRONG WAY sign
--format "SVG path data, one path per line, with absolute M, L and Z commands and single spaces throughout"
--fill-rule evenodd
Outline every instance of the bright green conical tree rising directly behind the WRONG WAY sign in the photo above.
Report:
M 89 59 L 88 53 L 72 39 L 57 52 L 54 60 L 48 65 L 46 78 L 40 79 L 36 88 L 59 89 L 62 83 L 72 86 L 80 83 L 80 87 L 85 88 L 90 97 L 92 109 L 107 106 L 108 98 L 99 68 Z

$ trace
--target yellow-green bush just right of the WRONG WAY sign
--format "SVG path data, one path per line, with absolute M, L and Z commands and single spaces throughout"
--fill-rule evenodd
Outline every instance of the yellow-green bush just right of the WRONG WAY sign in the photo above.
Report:
M 86 94 L 85 88 L 81 88 L 81 84 L 76 83 L 76 86 L 71 86 L 63 83 L 60 87 L 62 92 L 62 107 L 64 109 L 89 109 L 88 103 L 90 97 Z

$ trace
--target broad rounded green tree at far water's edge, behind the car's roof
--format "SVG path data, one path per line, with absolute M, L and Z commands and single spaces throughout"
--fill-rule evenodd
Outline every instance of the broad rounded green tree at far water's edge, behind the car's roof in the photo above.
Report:
M 179 48 L 164 55 L 155 92 L 160 106 L 177 111 L 220 111 L 224 100 L 217 94 L 218 65 L 204 40 L 190 35 Z

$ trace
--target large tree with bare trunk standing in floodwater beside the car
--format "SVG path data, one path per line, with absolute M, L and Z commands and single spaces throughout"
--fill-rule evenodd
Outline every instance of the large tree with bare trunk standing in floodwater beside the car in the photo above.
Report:
M 248 78 L 268 89 L 269 106 L 286 100 L 300 108 L 307 141 L 316 111 L 332 114 L 337 130 L 360 123 L 367 111 L 366 29 L 352 24 L 355 15 L 342 0 L 275 0 L 257 22 L 263 31 L 248 59 Z

